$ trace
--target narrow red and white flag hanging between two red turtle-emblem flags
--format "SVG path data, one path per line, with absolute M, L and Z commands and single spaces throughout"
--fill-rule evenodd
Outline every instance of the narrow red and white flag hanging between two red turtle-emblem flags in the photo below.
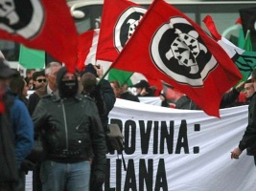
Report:
M 96 64 L 96 50 L 100 30 L 83 32 L 79 36 L 78 69 L 81 71 L 87 64 Z

